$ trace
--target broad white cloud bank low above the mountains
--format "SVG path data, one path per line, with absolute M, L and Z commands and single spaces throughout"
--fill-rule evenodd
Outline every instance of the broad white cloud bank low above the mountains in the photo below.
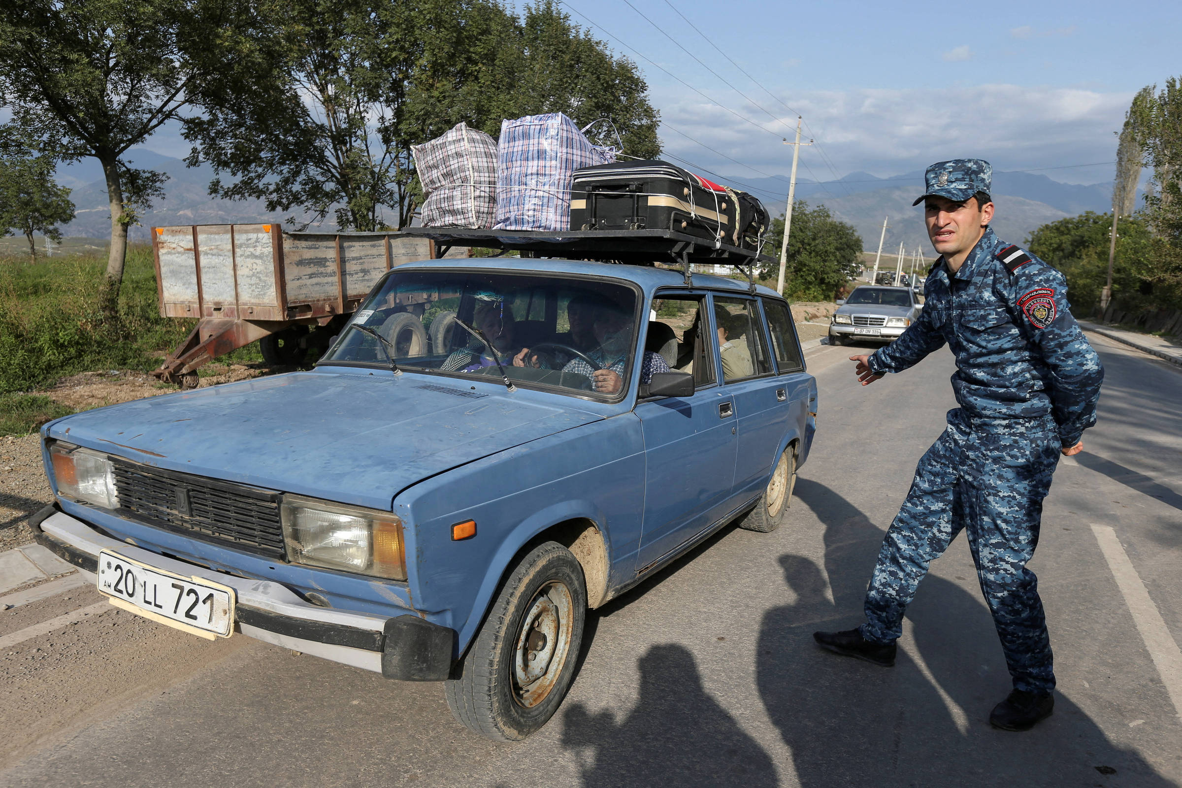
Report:
M 686 99 L 684 93 L 655 93 L 661 117 L 673 126 L 762 174 L 788 174 L 791 148 L 781 138 L 794 132 L 794 113 L 782 111 L 777 122 L 758 108 L 743 106 L 738 97 L 728 100 L 756 121 L 760 128 L 755 128 L 717 105 Z M 800 175 L 812 180 L 833 177 L 821 151 L 838 176 L 855 170 L 896 175 L 960 156 L 981 156 L 998 169 L 1109 162 L 1116 149 L 1112 132 L 1121 128 L 1131 98 L 1124 92 L 1006 84 L 785 96 L 804 115 L 806 138 L 816 136 L 821 146 L 801 150 Z M 661 138 L 668 152 L 704 168 L 739 180 L 760 177 L 668 129 L 661 130 Z M 1111 168 L 1048 175 L 1086 180 L 1091 172 L 1093 182 L 1111 177 Z

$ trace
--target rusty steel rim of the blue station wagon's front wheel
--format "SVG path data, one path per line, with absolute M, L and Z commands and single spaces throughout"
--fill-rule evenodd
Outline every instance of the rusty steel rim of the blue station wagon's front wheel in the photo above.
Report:
M 570 588 L 551 580 L 533 595 L 514 638 L 513 698 L 530 709 L 554 689 L 570 656 L 574 626 Z

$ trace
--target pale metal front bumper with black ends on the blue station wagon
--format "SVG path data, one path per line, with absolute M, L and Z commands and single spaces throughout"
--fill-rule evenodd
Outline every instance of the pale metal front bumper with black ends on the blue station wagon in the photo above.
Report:
M 195 575 L 234 588 L 234 630 L 285 649 L 293 649 L 387 678 L 430 682 L 448 677 L 456 633 L 408 613 L 387 618 L 370 613 L 320 607 L 287 586 L 239 578 L 152 553 L 112 539 L 56 507 L 31 519 L 33 538 L 77 566 L 91 581 L 100 549 L 181 575 Z

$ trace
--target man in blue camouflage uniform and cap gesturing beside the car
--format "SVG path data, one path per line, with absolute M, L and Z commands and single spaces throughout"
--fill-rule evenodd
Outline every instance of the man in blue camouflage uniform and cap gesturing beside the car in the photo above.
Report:
M 976 564 L 1014 691 L 989 722 L 1028 730 L 1054 706 L 1054 672 L 1038 580 L 1043 499 L 1059 455 L 1083 449 L 1104 371 L 1067 305 L 1063 274 L 988 226 L 992 168 L 961 158 L 928 168 L 926 223 L 940 259 L 920 318 L 872 356 L 853 356 L 862 385 L 902 372 L 948 343 L 960 408 L 928 449 L 891 523 L 866 591 L 866 623 L 817 632 L 838 653 L 895 664 L 903 613 L 928 565 L 961 529 Z

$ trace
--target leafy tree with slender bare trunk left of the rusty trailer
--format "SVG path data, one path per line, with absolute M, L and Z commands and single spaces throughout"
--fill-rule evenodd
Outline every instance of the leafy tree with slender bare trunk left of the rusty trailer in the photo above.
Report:
M 180 117 L 216 70 L 229 0 L 6 0 L 0 103 L 13 125 L 60 161 L 92 156 L 111 209 L 104 311 L 117 314 L 128 227 L 165 176 L 131 168 L 129 148 Z

